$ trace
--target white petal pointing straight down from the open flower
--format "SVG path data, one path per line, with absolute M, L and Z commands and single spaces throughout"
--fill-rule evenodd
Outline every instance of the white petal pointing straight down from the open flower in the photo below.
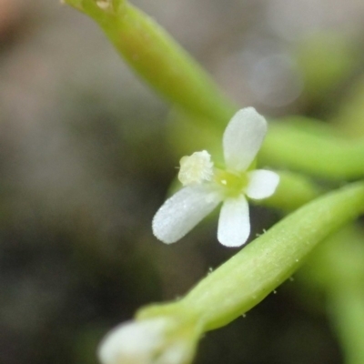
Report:
M 240 247 L 250 233 L 249 207 L 247 198 L 227 198 L 218 218 L 217 240 L 226 247 Z

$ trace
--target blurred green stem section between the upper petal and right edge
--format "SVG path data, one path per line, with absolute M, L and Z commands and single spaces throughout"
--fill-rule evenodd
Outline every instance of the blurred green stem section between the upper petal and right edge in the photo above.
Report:
M 314 134 L 287 123 L 271 123 L 259 157 L 269 166 L 288 167 L 337 180 L 364 176 L 364 139 Z

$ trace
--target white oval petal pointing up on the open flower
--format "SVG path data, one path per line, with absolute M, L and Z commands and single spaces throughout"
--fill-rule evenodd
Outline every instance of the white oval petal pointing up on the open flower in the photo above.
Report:
M 254 107 L 239 110 L 228 123 L 223 137 L 227 168 L 245 171 L 256 157 L 266 132 L 267 121 Z

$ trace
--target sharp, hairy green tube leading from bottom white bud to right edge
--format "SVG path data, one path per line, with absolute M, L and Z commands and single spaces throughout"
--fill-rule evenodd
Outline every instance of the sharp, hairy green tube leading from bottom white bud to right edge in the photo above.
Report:
M 138 317 L 183 311 L 206 331 L 224 326 L 267 297 L 322 239 L 363 211 L 363 182 L 319 197 L 240 250 L 185 298 L 167 306 L 144 308 Z

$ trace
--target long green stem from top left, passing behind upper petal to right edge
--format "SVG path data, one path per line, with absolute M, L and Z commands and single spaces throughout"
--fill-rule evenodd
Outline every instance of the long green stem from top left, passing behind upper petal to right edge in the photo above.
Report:
M 150 17 L 123 0 L 102 10 L 96 0 L 66 0 L 92 17 L 116 50 L 150 86 L 173 104 L 203 116 L 217 131 L 236 111 L 187 52 Z M 264 161 L 319 177 L 354 179 L 364 175 L 364 141 L 317 136 L 295 126 L 272 125 L 262 148 Z

